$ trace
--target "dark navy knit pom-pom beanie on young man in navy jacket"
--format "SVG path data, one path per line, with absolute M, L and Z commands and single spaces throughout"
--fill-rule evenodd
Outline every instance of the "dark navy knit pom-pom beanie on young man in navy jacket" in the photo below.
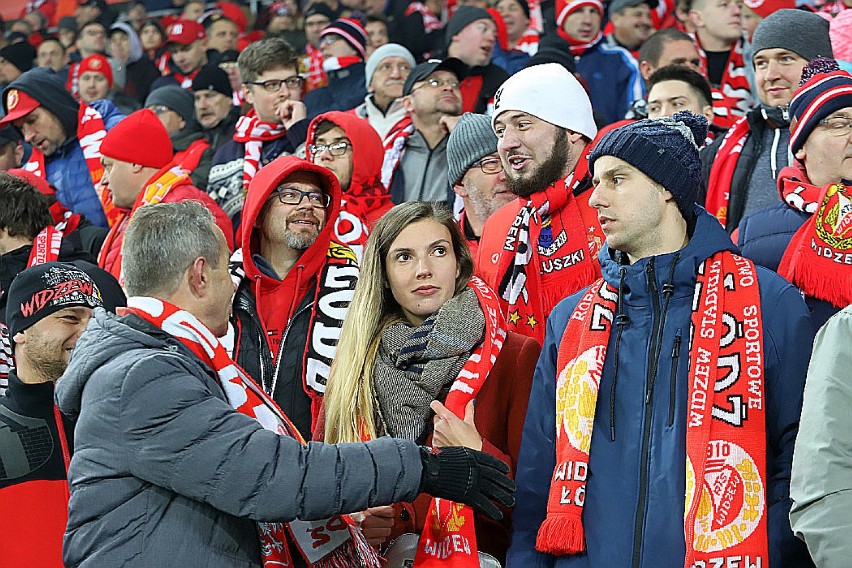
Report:
M 707 119 L 681 111 L 671 118 L 640 120 L 608 132 L 592 149 L 589 169 L 601 156 L 615 156 L 669 190 L 685 219 L 692 217 L 701 184 L 698 145 Z

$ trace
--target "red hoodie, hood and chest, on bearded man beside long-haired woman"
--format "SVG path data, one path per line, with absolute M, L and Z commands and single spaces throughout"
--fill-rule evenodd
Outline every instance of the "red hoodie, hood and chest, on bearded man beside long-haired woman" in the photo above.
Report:
M 258 216 L 285 178 L 294 172 L 313 172 L 322 180 L 322 189 L 331 195 L 331 204 L 325 210 L 325 225 L 317 240 L 302 253 L 283 280 L 276 280 L 258 269 L 252 255 L 260 254 L 260 233 L 255 225 Z M 317 285 L 317 275 L 327 262 L 329 243 L 332 241 L 332 229 L 340 213 L 340 184 L 337 178 L 326 168 L 312 164 L 296 156 L 276 158 L 257 172 L 252 179 L 243 207 L 243 220 L 240 227 L 239 242 L 243 251 L 243 268 L 246 278 L 253 282 L 257 313 L 260 323 L 267 334 L 269 349 L 273 359 L 278 354 L 281 335 L 293 316 L 299 302 Z

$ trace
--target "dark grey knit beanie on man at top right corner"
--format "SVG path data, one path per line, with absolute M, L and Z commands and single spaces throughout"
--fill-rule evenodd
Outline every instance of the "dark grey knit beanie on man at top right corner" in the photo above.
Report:
M 813 12 L 784 9 L 766 17 L 751 40 L 752 53 L 763 49 L 787 49 L 810 61 L 817 57 L 834 57 L 828 20 Z

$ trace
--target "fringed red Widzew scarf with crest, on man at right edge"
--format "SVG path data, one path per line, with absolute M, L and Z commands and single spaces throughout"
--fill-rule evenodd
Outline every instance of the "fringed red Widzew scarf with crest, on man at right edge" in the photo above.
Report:
M 852 191 L 811 185 L 801 167 L 781 170 L 781 199 L 810 218 L 784 251 L 778 274 L 805 295 L 838 308 L 852 304 Z

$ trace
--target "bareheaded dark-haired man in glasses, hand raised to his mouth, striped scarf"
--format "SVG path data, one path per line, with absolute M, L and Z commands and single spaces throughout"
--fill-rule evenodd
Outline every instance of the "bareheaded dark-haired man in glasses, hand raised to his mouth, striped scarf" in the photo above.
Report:
M 207 193 L 239 225 L 245 194 L 255 174 L 305 141 L 308 121 L 304 81 L 296 52 L 279 37 L 250 44 L 237 60 L 243 94 L 252 109 L 237 121 L 233 140 L 213 156 Z

